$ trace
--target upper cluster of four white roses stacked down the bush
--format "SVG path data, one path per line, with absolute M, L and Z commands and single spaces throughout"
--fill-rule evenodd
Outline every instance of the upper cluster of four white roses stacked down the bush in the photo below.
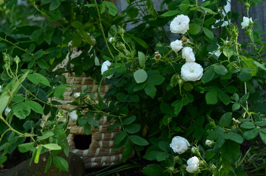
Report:
M 170 31 L 173 33 L 185 34 L 189 29 L 190 19 L 186 15 L 177 15 L 170 23 Z M 181 50 L 182 41 L 176 40 L 170 43 L 172 50 L 177 53 Z M 186 63 L 181 67 L 181 76 L 184 81 L 200 80 L 203 75 L 203 68 L 195 62 L 195 55 L 192 48 L 184 47 L 182 49 L 182 58 Z

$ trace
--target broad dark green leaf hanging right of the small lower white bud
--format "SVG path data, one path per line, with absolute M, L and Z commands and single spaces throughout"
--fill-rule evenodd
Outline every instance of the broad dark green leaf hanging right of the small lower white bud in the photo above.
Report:
M 237 161 L 240 155 L 240 146 L 234 141 L 226 140 L 221 148 L 222 159 L 231 163 Z

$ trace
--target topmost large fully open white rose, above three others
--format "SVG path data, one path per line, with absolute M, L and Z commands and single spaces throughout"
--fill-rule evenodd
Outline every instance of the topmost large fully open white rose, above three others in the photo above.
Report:
M 189 29 L 190 19 L 186 15 L 177 15 L 170 23 L 170 31 L 172 33 L 185 34 Z

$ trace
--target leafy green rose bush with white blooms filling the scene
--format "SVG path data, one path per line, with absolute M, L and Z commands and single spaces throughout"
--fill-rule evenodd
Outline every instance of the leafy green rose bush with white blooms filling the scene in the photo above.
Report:
M 84 126 L 88 117 L 82 112 L 86 110 L 95 113 L 96 120 L 102 116 L 114 119 L 108 130 L 121 126 L 112 150 L 124 147 L 124 162 L 133 150 L 151 161 L 143 167 L 145 175 L 247 175 L 263 169 L 258 158 L 265 150 L 240 150 L 244 141 L 266 143 L 265 42 L 260 38 L 262 29 L 254 29 L 259 23 L 248 15 L 248 8 L 261 1 L 245 0 L 249 18 L 243 22 L 244 14 L 224 10 L 224 0 L 163 1 L 168 7 L 164 11 L 156 11 L 150 0 L 141 1 L 144 9 L 139 1 L 127 1 L 129 6 L 121 15 L 107 1 L 60 1 L 55 6 L 58 2 L 33 2 L 44 20 L 23 35 L 17 35 L 25 32 L 23 25 L 15 30 L 15 5 L 7 4 L 10 24 L 0 33 L 0 42 L 7 45 L 0 112 L 7 105 L 8 113 L 0 116 L 0 142 L 9 150 L 3 151 L 2 163 L 7 152 L 17 147 L 21 152 L 31 150 L 34 162 L 41 152 L 54 150 L 48 169 L 58 152 L 68 154 L 69 118 Z M 246 36 L 239 36 L 241 26 L 230 19 L 242 22 Z M 127 22 L 139 25 L 127 30 Z M 173 41 L 167 32 L 175 33 Z M 29 40 L 27 45 L 25 38 L 16 38 L 21 36 Z M 250 42 L 240 43 L 239 37 Z M 100 86 L 111 85 L 103 99 L 98 87 L 97 102 L 88 89 L 74 89 L 70 96 L 75 97 L 71 103 L 75 109 L 47 103 L 48 98 L 62 99 L 65 87 L 71 86 L 65 84 L 60 69 L 53 70 L 66 56 L 68 72 L 77 77 L 85 73 Z M 49 112 L 47 126 L 41 128 L 40 114 Z M 67 114 L 68 120 L 60 122 Z M 97 128 L 89 122 L 86 125 Z M 18 126 L 24 131 L 16 130 Z M 30 142 L 25 143 L 25 138 Z M 47 147 L 49 143 L 56 147 Z M 251 150 L 258 155 L 247 159 Z M 254 170 L 251 163 L 257 164 Z M 56 167 L 66 171 L 61 165 Z

